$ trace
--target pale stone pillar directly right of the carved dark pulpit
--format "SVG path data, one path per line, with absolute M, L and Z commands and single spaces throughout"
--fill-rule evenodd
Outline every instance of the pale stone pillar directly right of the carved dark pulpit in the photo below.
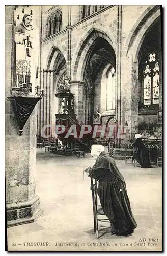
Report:
M 84 82 L 70 81 L 71 93 L 74 94 L 76 119 L 80 124 L 84 124 Z

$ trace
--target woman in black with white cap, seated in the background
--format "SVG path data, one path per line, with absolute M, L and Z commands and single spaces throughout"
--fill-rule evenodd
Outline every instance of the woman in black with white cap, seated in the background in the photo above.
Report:
M 135 142 L 133 144 L 133 156 L 134 159 L 142 166 L 142 168 L 151 168 L 149 150 L 144 145 L 141 134 L 135 134 Z

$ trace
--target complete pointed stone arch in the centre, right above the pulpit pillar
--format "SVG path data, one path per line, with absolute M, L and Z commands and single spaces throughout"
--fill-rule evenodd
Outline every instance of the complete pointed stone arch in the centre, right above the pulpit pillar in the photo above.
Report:
M 73 59 L 71 64 L 71 67 L 73 67 L 73 74 L 72 74 L 73 80 L 79 80 L 79 81 L 84 80 L 86 62 L 87 62 L 87 59 L 89 58 L 89 55 L 98 37 L 104 38 L 116 52 L 116 47 L 113 44 L 114 38 L 112 38 L 113 40 L 111 40 L 110 36 L 108 36 L 108 33 L 106 33 L 104 30 L 101 30 L 99 28 L 94 28 L 94 27 L 89 28 L 85 36 L 79 42 L 73 54 Z

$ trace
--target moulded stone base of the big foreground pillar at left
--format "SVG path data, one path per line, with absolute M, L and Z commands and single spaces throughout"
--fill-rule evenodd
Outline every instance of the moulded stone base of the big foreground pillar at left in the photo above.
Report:
M 7 227 L 34 222 L 42 214 L 39 205 L 38 196 L 30 201 L 7 204 Z

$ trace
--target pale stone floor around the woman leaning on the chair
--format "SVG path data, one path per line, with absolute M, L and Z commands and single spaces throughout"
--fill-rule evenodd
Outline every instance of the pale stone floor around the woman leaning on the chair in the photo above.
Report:
M 128 237 L 110 236 L 109 228 L 101 229 L 96 239 L 90 178 L 82 180 L 82 168 L 93 162 L 90 154 L 76 158 L 37 151 L 36 194 L 43 214 L 34 223 L 8 228 L 8 250 L 161 250 L 161 168 L 134 168 L 123 160 L 116 161 L 138 226 Z

